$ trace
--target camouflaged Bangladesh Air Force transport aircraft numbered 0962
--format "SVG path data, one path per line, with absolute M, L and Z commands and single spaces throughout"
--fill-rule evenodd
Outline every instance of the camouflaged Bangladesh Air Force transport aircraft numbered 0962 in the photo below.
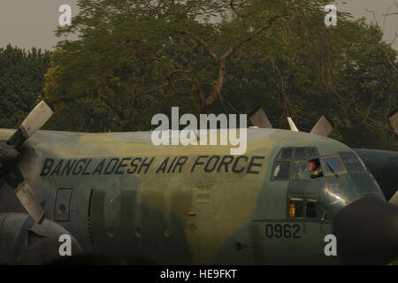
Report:
M 295 131 L 273 129 L 258 109 L 246 154 L 232 156 L 228 147 L 157 147 L 150 132 L 38 131 L 51 114 L 41 102 L 17 131 L 0 130 L 0 264 L 398 258 L 398 153 L 326 138 L 325 118 L 306 134 L 291 119 Z M 398 131 L 398 113 L 390 120 Z M 72 256 L 58 252 L 64 234 Z M 325 255 L 329 234 L 337 256 Z

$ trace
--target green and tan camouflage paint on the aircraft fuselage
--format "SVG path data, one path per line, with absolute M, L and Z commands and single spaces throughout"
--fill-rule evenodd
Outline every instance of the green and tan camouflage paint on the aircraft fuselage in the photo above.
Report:
M 12 133 L 0 130 L 0 140 Z M 155 264 L 337 264 L 338 257 L 323 253 L 325 234 L 333 232 L 333 216 L 365 193 L 382 193 L 375 181 L 348 174 L 337 179 L 272 181 L 273 162 L 285 147 L 317 148 L 320 157 L 354 153 L 341 142 L 318 135 L 249 129 L 246 154 L 233 157 L 233 162 L 239 158 L 236 164 L 210 170 L 212 165 L 206 162 L 211 158 L 230 161 L 229 147 L 156 147 L 148 132 L 39 131 L 24 145 L 19 168 L 42 202 L 47 220 L 71 233 L 88 256 L 119 262 L 143 258 Z M 138 173 L 139 167 L 132 165 L 137 157 L 142 159 L 136 164 L 145 158 L 148 164 L 153 158 L 148 170 L 143 167 Z M 167 157 L 167 166 L 162 167 Z M 112 159 L 117 165 L 111 171 Z M 73 160 L 80 167 L 67 175 L 65 165 Z M 179 160 L 185 163 L 176 167 Z M 106 164 L 110 174 L 104 174 Z M 345 203 L 330 201 L 325 189 L 331 183 L 339 187 Z M 60 189 L 72 189 L 70 200 L 68 192 Z M 22 211 L 8 191 L 0 190 L 0 210 Z M 289 218 L 292 193 L 318 194 L 318 218 Z M 66 212 L 56 206 L 59 203 L 66 203 Z M 269 239 L 265 226 L 272 223 L 298 225 L 302 237 Z M 0 235 L 9 233 L 0 228 Z

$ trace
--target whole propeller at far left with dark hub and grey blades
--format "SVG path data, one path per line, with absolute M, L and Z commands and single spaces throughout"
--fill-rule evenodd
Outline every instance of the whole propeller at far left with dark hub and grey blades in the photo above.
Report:
M 19 129 L 11 135 L 10 139 L 0 142 L 0 174 L 1 179 L 13 188 L 19 202 L 27 213 L 34 218 L 37 224 L 44 219 L 44 211 L 34 191 L 29 186 L 28 180 L 19 171 L 17 163 L 20 160 L 19 150 L 24 142 L 36 133 L 51 117 L 53 111 L 50 106 L 42 101 L 38 103 L 27 118 L 22 122 Z

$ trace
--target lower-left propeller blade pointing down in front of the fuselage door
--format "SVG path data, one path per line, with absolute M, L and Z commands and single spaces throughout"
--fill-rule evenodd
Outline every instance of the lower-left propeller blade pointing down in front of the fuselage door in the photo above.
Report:
M 34 191 L 24 179 L 18 167 L 5 176 L 7 184 L 13 188 L 15 195 L 17 195 L 19 202 L 27 210 L 27 213 L 34 219 L 37 224 L 42 224 L 44 219 L 44 210 L 39 203 Z

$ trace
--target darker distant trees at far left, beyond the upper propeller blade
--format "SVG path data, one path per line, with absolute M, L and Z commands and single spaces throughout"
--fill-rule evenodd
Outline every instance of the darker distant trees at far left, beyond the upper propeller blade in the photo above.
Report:
M 0 127 L 16 128 L 42 95 L 50 52 L 0 49 Z

